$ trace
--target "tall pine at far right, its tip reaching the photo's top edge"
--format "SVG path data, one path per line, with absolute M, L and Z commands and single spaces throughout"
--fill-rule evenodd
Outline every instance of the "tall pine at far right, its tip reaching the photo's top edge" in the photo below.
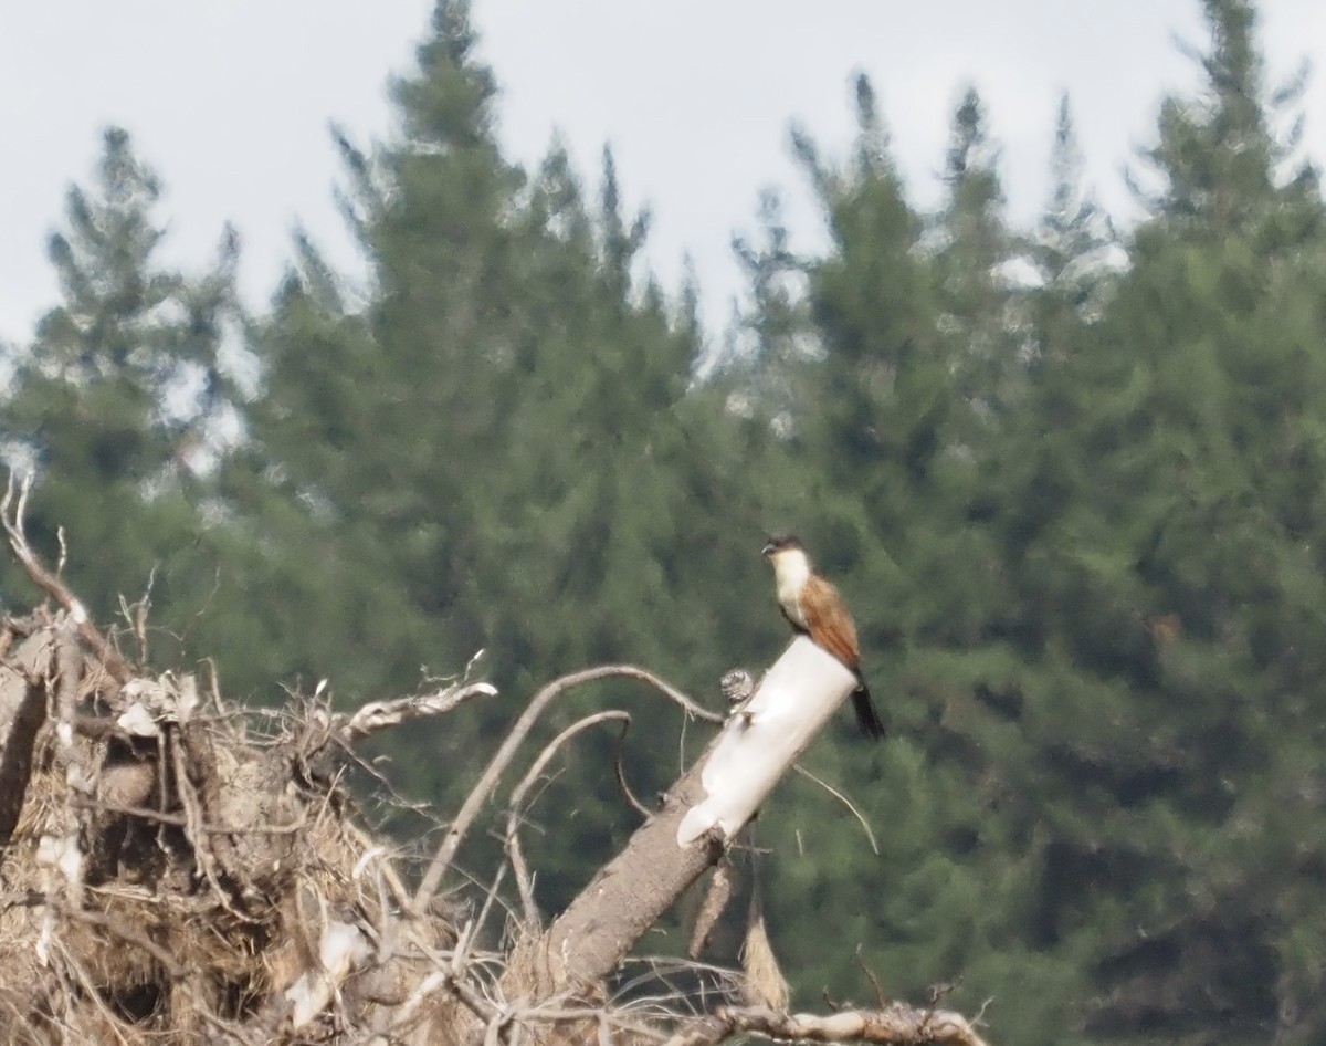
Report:
M 1250 7 L 1207 15 L 1208 82 L 1162 110 L 1132 268 L 1006 449 L 1026 747 L 1005 816 L 1037 826 L 1026 932 L 1085 957 L 1089 1035 L 1313 1041 L 1317 858 L 1282 832 L 1310 816 L 1302 628 L 1326 609 L 1321 200 L 1277 173 Z

